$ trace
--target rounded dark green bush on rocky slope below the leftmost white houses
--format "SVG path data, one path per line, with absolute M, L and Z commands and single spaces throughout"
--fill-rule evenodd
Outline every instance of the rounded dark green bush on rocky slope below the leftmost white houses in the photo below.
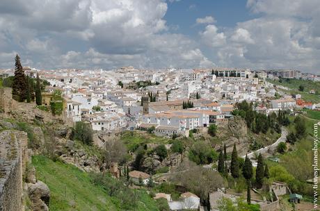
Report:
M 91 145 L 93 143 L 93 129 L 90 124 L 77 121 L 74 128 L 74 139 L 83 142 L 83 144 Z

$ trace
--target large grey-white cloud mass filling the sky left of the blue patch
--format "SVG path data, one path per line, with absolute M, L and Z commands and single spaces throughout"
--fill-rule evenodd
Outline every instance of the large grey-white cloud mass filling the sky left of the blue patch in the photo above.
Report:
M 13 7 L 13 1 L 20 6 Z M 198 67 L 209 62 L 190 38 L 168 33 L 163 0 L 3 0 L 0 6 L 6 8 L 0 8 L 3 52 L 17 49 L 38 67 Z

